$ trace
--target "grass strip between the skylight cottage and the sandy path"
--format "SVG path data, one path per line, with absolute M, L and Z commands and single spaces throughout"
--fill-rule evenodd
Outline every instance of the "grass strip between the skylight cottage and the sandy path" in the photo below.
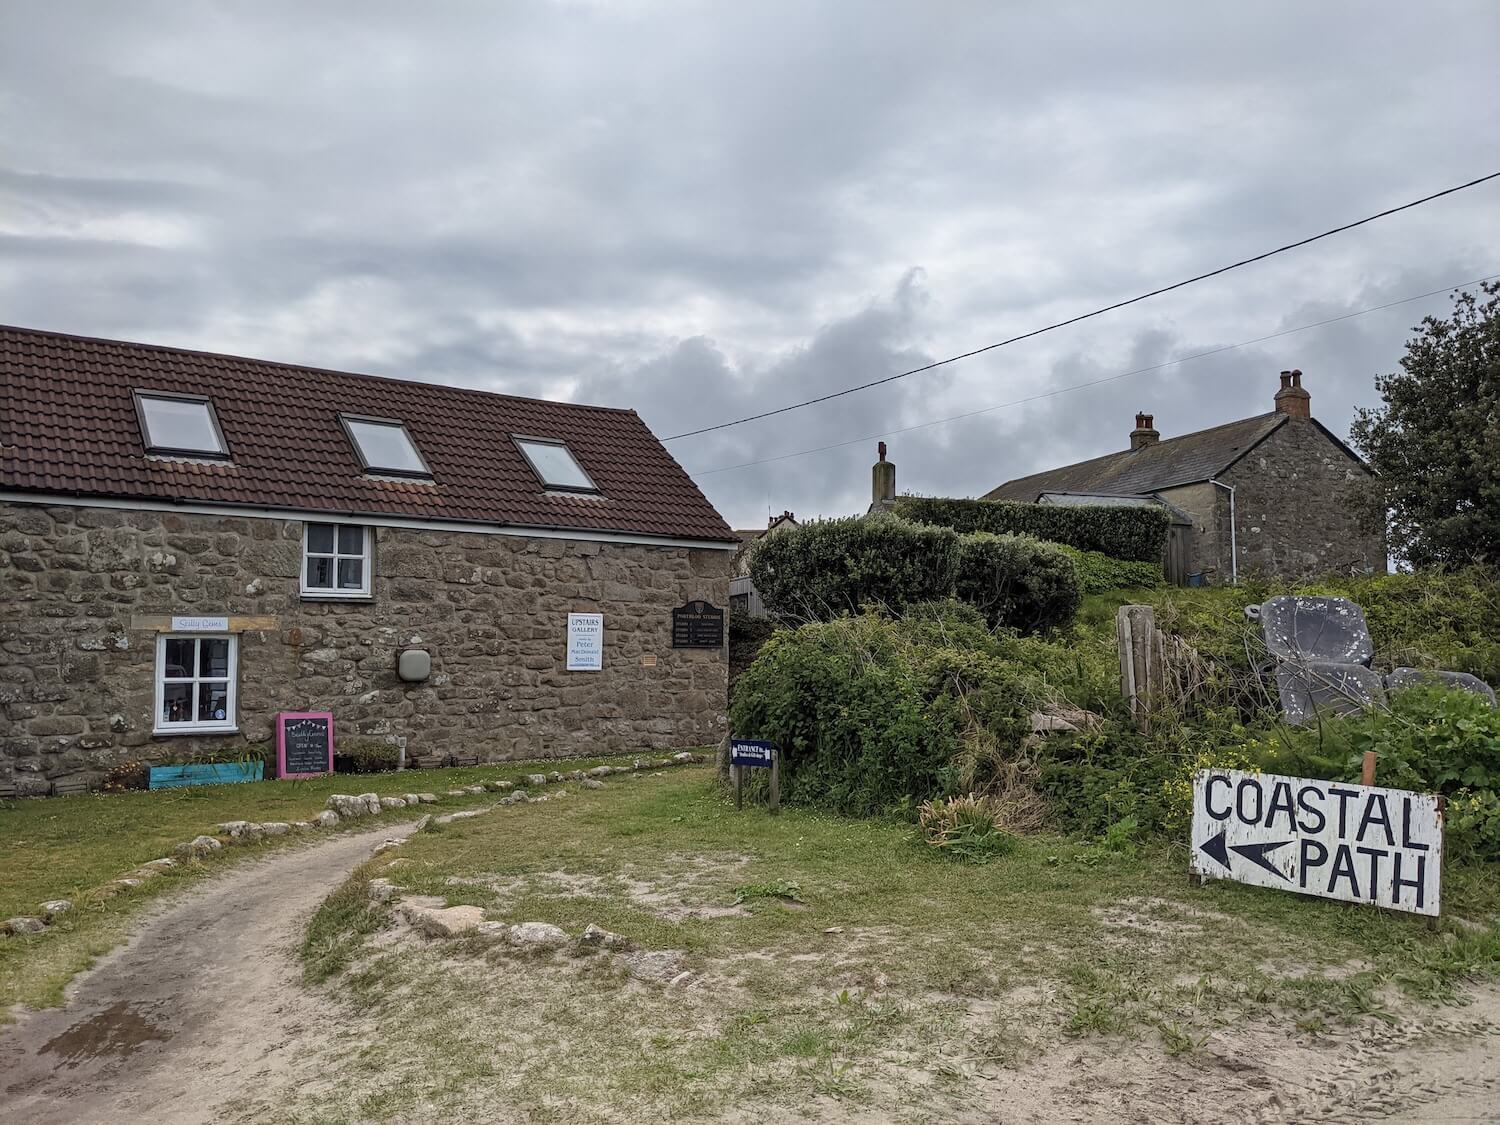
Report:
M 57 1004 L 68 981 L 118 944 L 136 910 L 164 891 L 298 838 L 280 837 L 249 848 L 226 848 L 207 861 L 195 861 L 112 898 L 93 900 L 88 896 L 88 891 L 140 864 L 170 855 L 177 843 L 202 832 L 212 834 L 216 824 L 304 820 L 324 807 L 328 794 L 375 792 L 387 796 L 432 790 L 441 795 L 476 782 L 518 782 L 537 770 L 567 771 L 604 760 L 618 764 L 618 759 L 603 758 L 520 762 L 0 801 L 0 918 L 36 914 L 39 903 L 51 898 L 74 902 L 74 909 L 62 915 L 48 933 L 0 939 L 0 1018 L 16 1002 Z M 484 800 L 444 798 L 442 808 L 460 808 Z

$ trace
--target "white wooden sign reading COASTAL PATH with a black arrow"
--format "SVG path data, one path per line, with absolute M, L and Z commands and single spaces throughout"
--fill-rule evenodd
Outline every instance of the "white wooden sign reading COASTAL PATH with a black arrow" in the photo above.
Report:
M 1198 770 L 1194 874 L 1437 915 L 1443 806 L 1434 794 Z

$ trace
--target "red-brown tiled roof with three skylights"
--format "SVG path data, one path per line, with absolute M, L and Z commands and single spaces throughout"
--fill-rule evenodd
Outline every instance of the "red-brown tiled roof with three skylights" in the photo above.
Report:
M 208 396 L 231 459 L 147 456 L 132 388 Z M 364 476 L 340 412 L 404 422 L 432 482 Z M 603 496 L 544 490 L 513 434 L 567 442 Z M 632 410 L 12 327 L 0 489 L 738 542 Z

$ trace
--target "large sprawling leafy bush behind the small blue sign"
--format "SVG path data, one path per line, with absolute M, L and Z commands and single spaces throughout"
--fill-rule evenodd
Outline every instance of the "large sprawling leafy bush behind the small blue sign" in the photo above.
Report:
M 789 804 L 868 816 L 1024 784 L 1046 688 L 1000 644 L 972 610 L 936 608 L 783 630 L 740 678 L 732 729 L 780 746 Z

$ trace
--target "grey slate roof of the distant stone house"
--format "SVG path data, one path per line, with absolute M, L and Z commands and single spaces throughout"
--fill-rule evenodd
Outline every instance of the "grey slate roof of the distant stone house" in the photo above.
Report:
M 1287 416 L 1278 411 L 1257 414 L 1143 448 L 1107 453 L 1076 465 L 1017 477 L 986 492 L 984 500 L 1018 500 L 1029 504 L 1042 492 L 1143 496 L 1179 484 L 1194 484 L 1216 477 L 1286 422 Z

